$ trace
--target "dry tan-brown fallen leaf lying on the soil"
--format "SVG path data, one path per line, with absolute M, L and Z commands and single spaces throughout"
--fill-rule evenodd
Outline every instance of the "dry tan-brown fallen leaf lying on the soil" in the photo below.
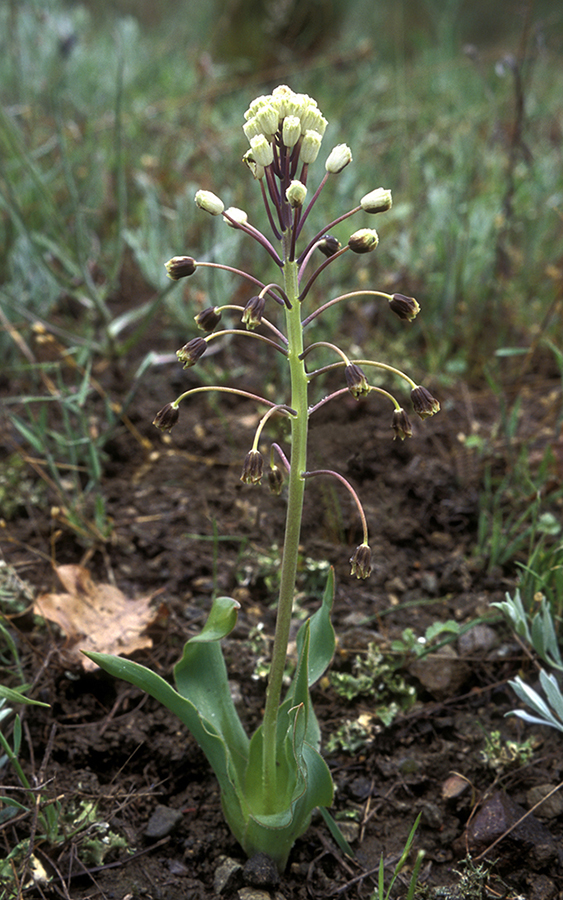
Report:
M 57 566 L 55 572 L 66 593 L 42 594 L 34 612 L 64 631 L 68 650 L 86 670 L 97 666 L 81 650 L 123 656 L 152 647 L 142 633 L 158 616 L 149 605 L 152 595 L 131 600 L 111 584 L 96 584 L 83 566 Z

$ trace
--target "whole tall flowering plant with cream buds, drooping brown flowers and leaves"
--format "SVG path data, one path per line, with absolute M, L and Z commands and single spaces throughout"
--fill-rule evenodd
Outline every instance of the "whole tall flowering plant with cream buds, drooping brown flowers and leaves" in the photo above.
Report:
M 334 477 L 350 492 L 363 529 L 363 540 L 350 560 L 352 574 L 367 578 L 371 571 L 367 522 L 356 492 L 337 472 L 312 471 L 307 467 L 309 419 L 325 403 L 342 395 L 351 393 L 359 399 L 376 394 L 392 406 L 394 436 L 400 439 L 411 436 L 411 424 L 402 405 L 387 390 L 370 384 L 366 373 L 374 368 L 408 385 L 414 411 L 421 418 L 434 415 L 440 406 L 426 388 L 387 363 L 351 359 L 336 344 L 306 340 L 320 315 L 334 304 L 352 297 L 377 297 L 407 321 L 419 312 L 414 298 L 375 290 L 350 291 L 323 300 L 316 306 L 310 305 L 311 288 L 328 266 L 334 265 L 345 253 L 373 252 L 379 242 L 375 229 L 361 227 L 341 246 L 331 235 L 331 229 L 353 215 L 374 215 L 390 209 L 391 192 L 384 188 L 370 191 L 316 234 L 305 237 L 305 226 L 323 187 L 352 161 L 350 148 L 339 144 L 330 152 L 322 180 L 310 192 L 309 169 L 319 154 L 327 126 L 316 102 L 306 94 L 296 94 L 282 85 L 272 94 L 251 103 L 245 120 L 243 129 L 250 149 L 244 162 L 261 190 L 273 238 L 267 238 L 249 222 L 243 210 L 225 209 L 221 199 L 210 191 L 198 191 L 195 201 L 204 212 L 222 216 L 228 226 L 257 241 L 269 256 L 276 274 L 270 281 L 261 281 L 247 272 L 216 262 L 196 261 L 191 256 L 176 256 L 169 260 L 166 268 L 173 280 L 192 276 L 203 267 L 227 268 L 249 283 L 249 294 L 252 294 L 244 307 L 219 303 L 200 312 L 195 318 L 205 336 L 189 340 L 177 355 L 187 368 L 195 365 L 209 345 L 223 335 L 257 341 L 287 364 L 290 396 L 287 402 L 275 403 L 233 387 L 199 386 L 168 403 L 158 412 L 154 424 L 170 430 L 178 421 L 180 404 L 204 391 L 228 392 L 266 407 L 241 474 L 244 483 L 259 484 L 267 465 L 268 481 L 276 494 L 281 493 L 283 483 L 287 481 L 277 620 L 262 724 L 249 738 L 229 691 L 220 642 L 237 620 L 239 604 L 230 597 L 215 599 L 203 630 L 185 645 L 182 658 L 174 669 L 176 689 L 129 660 L 99 653 L 88 655 L 106 671 L 156 697 L 187 725 L 218 778 L 225 818 L 233 834 L 248 855 L 265 852 L 283 870 L 289 851 L 295 839 L 307 829 L 313 810 L 319 807 L 326 812 L 333 797 L 332 779 L 319 753 L 320 730 L 309 696 L 311 685 L 324 673 L 334 651 L 335 636 L 330 620 L 334 597 L 332 573 L 319 609 L 299 630 L 297 666 L 290 687 L 282 696 L 303 498 L 311 478 Z M 322 260 L 319 265 L 317 258 Z M 217 330 L 222 314 L 233 310 L 241 314 L 245 328 Z M 272 321 L 270 311 L 276 314 L 275 321 Z M 320 347 L 328 348 L 334 354 L 335 362 L 309 369 L 309 361 Z M 335 369 L 342 370 L 343 387 L 311 405 L 311 381 Z M 282 415 L 290 422 L 291 449 L 286 455 L 279 444 L 272 443 L 266 463 L 260 442 L 266 423 L 275 415 Z M 328 821 L 328 814 L 325 818 Z

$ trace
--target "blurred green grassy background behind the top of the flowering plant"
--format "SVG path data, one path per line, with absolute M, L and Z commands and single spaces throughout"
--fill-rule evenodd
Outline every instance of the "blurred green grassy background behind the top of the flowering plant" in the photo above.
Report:
M 354 154 L 323 192 L 314 231 L 372 188 L 394 196 L 377 253 L 346 257 L 315 290 L 365 285 L 422 307 L 405 328 L 369 302 L 339 304 L 327 335 L 403 360 L 441 396 L 460 381 L 488 386 L 506 400 L 507 434 L 522 374 L 563 373 L 559 2 L 6 0 L 0 35 L 0 388 L 27 445 L 51 448 L 63 499 L 99 485 L 119 424 L 92 373 L 121 359 L 127 396 L 133 373 L 148 377 L 152 345 L 173 353 L 202 305 L 240 287 L 204 272 L 195 287 L 174 286 L 163 263 L 189 253 L 270 277 L 256 246 L 193 196 L 213 190 L 264 222 L 241 124 L 279 83 L 309 93 L 329 120 L 318 179 L 332 146 Z M 335 233 L 347 240 L 348 225 Z M 39 353 L 39 339 L 56 352 Z M 92 395 L 105 417 L 95 429 Z M 50 431 L 47 401 L 59 409 Z M 554 434 L 561 415 L 559 404 Z M 65 456 L 82 470 L 66 494 Z M 485 525 L 502 535 L 494 482 L 487 491 Z M 97 504 L 95 540 L 108 530 Z

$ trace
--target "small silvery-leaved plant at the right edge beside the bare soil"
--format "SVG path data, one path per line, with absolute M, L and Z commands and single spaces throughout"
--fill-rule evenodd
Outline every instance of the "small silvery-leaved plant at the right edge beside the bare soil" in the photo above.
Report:
M 524 609 L 519 590 L 515 591 L 514 597 L 506 594 L 506 599 L 502 603 L 492 605 L 501 610 L 516 634 L 533 647 L 543 662 L 559 673 L 563 672 L 557 632 L 545 597 L 542 598 L 533 618 Z M 523 709 L 513 709 L 508 715 L 518 716 L 532 725 L 547 725 L 549 728 L 563 731 L 563 691 L 554 674 L 548 674 L 545 669 L 540 669 L 540 686 L 545 699 L 519 675 L 508 683 L 520 700 L 532 710 L 532 713 L 529 713 Z

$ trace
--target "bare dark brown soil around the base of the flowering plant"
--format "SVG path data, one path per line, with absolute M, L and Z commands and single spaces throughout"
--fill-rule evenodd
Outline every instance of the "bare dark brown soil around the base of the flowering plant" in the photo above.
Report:
M 142 352 L 137 349 L 139 358 Z M 127 372 L 134 370 L 135 362 L 128 360 L 127 366 L 98 366 L 95 374 L 103 391 L 118 399 Z M 260 375 L 254 380 L 258 385 Z M 22 506 L 5 523 L 4 560 L 33 593 L 57 586 L 52 562 L 82 562 L 94 579 L 114 583 L 131 597 L 153 593 L 160 604 L 150 630 L 153 645 L 134 658 L 164 677 L 171 677 L 183 642 L 201 627 L 213 591 L 235 596 L 241 611 L 225 653 L 241 715 L 252 730 L 264 701 L 260 671 L 274 628 L 275 548 L 284 498 L 271 495 L 265 483 L 249 487 L 239 480 L 257 422 L 250 402 L 199 395 L 182 408 L 171 435 L 152 427 L 156 411 L 192 381 L 197 383 L 191 370 L 161 367 L 139 387 L 109 437 L 102 490 L 112 533 L 105 543 L 86 545 L 60 515 L 50 515 L 56 498 L 47 488 L 39 505 Z M 248 389 L 249 379 L 241 376 L 240 386 Z M 14 385 L 3 389 L 15 392 Z M 557 381 L 530 374 L 519 389 L 519 439 L 528 442 L 531 459 L 534 454 L 540 459 L 549 439 L 542 416 L 549 409 L 538 409 L 534 398 L 553 397 Z M 481 854 L 497 836 L 494 829 L 485 829 L 481 843 L 474 834 L 479 812 L 492 809 L 491 798 L 514 801 L 522 814 L 529 810 L 534 787 L 555 787 L 562 780 L 563 758 L 557 733 L 505 718 L 516 705 L 507 681 L 522 667 L 531 671 L 531 664 L 491 603 L 514 587 L 517 569 L 514 562 L 506 569 L 491 567 L 486 552 L 476 549 L 484 463 L 460 436 L 486 438 L 488 461 L 497 472 L 510 465 L 515 447 L 508 453 L 495 437 L 499 410 L 488 391 L 452 387 L 440 391 L 440 400 L 441 413 L 413 423 L 415 434 L 405 442 L 391 439 L 388 411 L 371 398 L 328 403 L 311 420 L 310 466 L 334 468 L 358 490 L 370 524 L 373 572 L 366 581 L 350 575 L 348 560 L 361 530 L 349 496 L 336 481 L 311 480 L 299 607 L 314 611 L 326 577 L 326 568 L 309 561 L 333 565 L 338 646 L 332 671 L 353 671 L 356 657 L 365 658 L 374 644 L 396 663 L 395 675 L 415 689 L 416 703 L 384 725 L 374 711 L 397 699 L 385 684 L 376 686 L 379 695 L 351 699 L 327 678 L 314 688 L 325 741 L 346 722 L 360 720 L 365 726 L 358 743 L 337 744 L 326 754 L 336 785 L 332 812 L 344 823 L 355 857 L 346 858 L 322 820 L 314 819 L 296 842 L 279 884 L 268 885 L 271 896 L 277 890 L 285 898 L 370 897 L 381 856 L 388 877 L 419 813 L 414 849 L 425 851 L 421 882 L 427 897 L 563 896 L 558 807 L 543 816 L 540 807 L 526 820 L 535 831 L 530 825 L 516 837 L 515 829 L 488 855 Z M 102 400 L 95 394 L 92 417 L 94 425 L 103 423 Z M 283 443 L 280 428 L 278 420 L 269 437 Z M 15 433 L 7 433 L 4 450 L 12 452 L 16 440 Z M 563 447 L 553 435 L 551 440 L 554 465 L 557 460 L 561 465 Z M 556 465 L 553 477 L 560 475 Z M 405 628 L 423 636 L 437 621 L 464 626 L 478 617 L 488 620 L 484 631 L 473 631 L 470 638 L 454 635 L 448 649 L 431 654 L 422 667 L 413 654 L 391 653 L 392 641 Z M 29 608 L 12 616 L 9 627 L 25 677 L 34 685 L 31 696 L 50 704 L 23 712 L 21 756 L 32 785 L 41 787 L 43 802 L 58 800 L 67 811 L 81 802 L 97 804 L 99 815 L 127 845 L 96 863 L 81 861 L 84 835 L 69 834 L 57 845 L 43 840 L 36 855 L 51 880 L 23 896 L 215 896 L 221 858 L 245 860 L 223 822 L 216 782 L 195 741 L 130 685 L 99 670 L 84 673 L 69 656 L 64 635 Z M 533 736 L 531 758 L 494 760 L 489 754 L 487 760 L 483 751 L 496 731 L 503 746 Z M 0 779 L 3 793 L 10 789 L 25 802 L 21 791 L 14 792 L 9 766 L 0 770 Z M 179 819 L 169 834 L 147 836 L 149 820 L 161 807 L 179 812 Z M 0 840 L 6 853 L 33 828 L 30 815 L 4 822 Z M 473 868 L 464 863 L 468 851 Z M 487 869 L 488 860 L 493 861 L 488 879 L 479 880 L 485 871 L 479 867 Z M 221 896 L 238 897 L 249 881 L 248 873 L 239 873 Z M 408 867 L 392 896 L 404 896 L 407 882 Z

